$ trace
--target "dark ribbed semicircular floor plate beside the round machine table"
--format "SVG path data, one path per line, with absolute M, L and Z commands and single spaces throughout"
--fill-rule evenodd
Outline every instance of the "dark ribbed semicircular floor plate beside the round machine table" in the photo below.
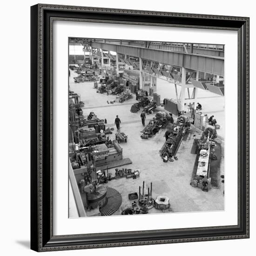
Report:
M 121 194 L 110 187 L 107 187 L 106 203 L 100 208 L 101 216 L 113 215 L 122 204 Z

